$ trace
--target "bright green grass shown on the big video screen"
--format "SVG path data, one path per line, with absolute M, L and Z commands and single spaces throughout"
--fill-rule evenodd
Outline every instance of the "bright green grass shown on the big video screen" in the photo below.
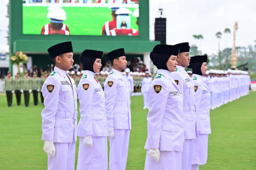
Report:
M 46 18 L 47 6 L 23 6 L 23 34 L 41 34 L 42 27 L 50 23 Z M 108 7 L 62 7 L 66 12 L 71 35 L 101 35 L 102 26 L 106 21 L 111 21 L 111 9 Z M 132 12 L 136 8 L 128 8 Z M 138 30 L 137 18 L 131 14 L 131 27 Z

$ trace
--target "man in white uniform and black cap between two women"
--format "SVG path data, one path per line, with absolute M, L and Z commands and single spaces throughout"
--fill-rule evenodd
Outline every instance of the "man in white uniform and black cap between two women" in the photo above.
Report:
M 185 71 L 185 67 L 189 66 L 190 63 L 190 46 L 188 43 L 179 43 L 176 44 L 176 46 L 180 47 L 180 53 L 178 54 L 177 57 L 178 65 L 176 71 L 172 72 L 171 75 L 174 78 L 176 84 L 178 85 L 183 97 L 182 117 L 185 122 L 185 143 L 182 152 L 182 170 L 190 170 L 192 161 L 193 142 L 194 139 L 196 139 L 197 137 L 194 84 L 188 73 Z

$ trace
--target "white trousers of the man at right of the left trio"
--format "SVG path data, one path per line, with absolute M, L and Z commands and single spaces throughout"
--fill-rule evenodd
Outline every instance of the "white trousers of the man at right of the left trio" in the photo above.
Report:
M 130 130 L 114 129 L 114 139 L 109 140 L 109 170 L 125 170 L 128 156 Z

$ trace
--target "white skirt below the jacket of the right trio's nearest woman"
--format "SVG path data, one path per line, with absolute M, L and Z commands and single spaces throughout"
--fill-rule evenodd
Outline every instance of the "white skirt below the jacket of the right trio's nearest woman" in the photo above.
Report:
M 160 150 L 160 158 L 156 162 L 147 150 L 144 170 L 181 170 L 181 154 L 182 152 Z

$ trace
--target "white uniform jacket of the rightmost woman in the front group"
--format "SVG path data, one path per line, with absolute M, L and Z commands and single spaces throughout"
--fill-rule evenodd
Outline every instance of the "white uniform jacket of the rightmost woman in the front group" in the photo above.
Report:
M 198 133 L 210 134 L 210 90 L 202 80 L 202 76 L 193 74 L 196 94 L 196 109 L 198 118 Z

